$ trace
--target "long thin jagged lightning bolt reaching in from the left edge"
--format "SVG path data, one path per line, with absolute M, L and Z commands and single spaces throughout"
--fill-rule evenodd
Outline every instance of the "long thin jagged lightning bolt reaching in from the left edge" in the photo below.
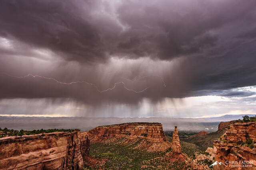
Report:
M 133 90 L 133 89 L 129 89 L 126 87 L 125 83 L 123 81 L 121 82 L 116 82 L 114 83 L 114 86 L 112 88 L 108 88 L 106 90 L 99 90 L 99 88 L 96 86 L 96 84 L 93 84 L 93 83 L 88 83 L 86 82 L 85 80 L 82 80 L 82 81 L 76 81 L 76 82 L 69 82 L 69 83 L 66 83 L 66 82 L 60 82 L 58 80 L 56 80 L 55 78 L 51 78 L 51 77 L 44 77 L 44 76 L 38 76 L 38 75 L 33 75 L 33 74 L 27 74 L 26 76 L 14 76 L 14 75 L 10 75 L 10 74 L 7 74 L 7 73 L 2 73 L 2 74 L 6 74 L 7 76 L 11 76 L 11 77 L 15 77 L 15 78 L 26 78 L 26 77 L 29 77 L 29 76 L 32 76 L 33 78 L 36 78 L 36 77 L 39 77 L 39 78 L 43 78 L 43 79 L 48 79 L 48 80 L 54 80 L 55 82 L 59 83 L 59 84 L 66 84 L 66 85 L 72 85 L 72 84 L 76 84 L 76 83 L 86 83 L 88 85 L 91 85 L 91 86 L 94 86 L 96 88 L 96 90 L 100 93 L 102 92 L 107 92 L 109 90 L 113 90 L 116 85 L 118 84 L 123 84 L 124 85 L 124 88 L 128 91 L 131 91 L 131 92 L 135 92 L 135 93 L 141 93 L 141 92 L 144 92 L 145 90 L 148 89 L 147 88 L 144 88 L 143 90 L 140 90 L 140 91 L 136 91 L 136 90 Z

